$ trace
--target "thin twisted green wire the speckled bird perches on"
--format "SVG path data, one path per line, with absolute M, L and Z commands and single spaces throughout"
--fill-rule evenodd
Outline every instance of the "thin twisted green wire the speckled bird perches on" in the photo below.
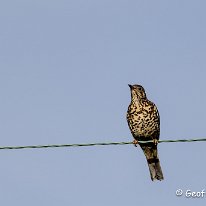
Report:
M 202 139 L 177 139 L 177 140 L 159 140 L 159 143 L 171 142 L 203 142 L 206 138 Z M 139 143 L 146 144 L 153 141 L 139 141 Z M 133 142 L 99 142 L 99 143 L 85 143 L 85 144 L 53 144 L 53 145 L 27 145 L 27 146 L 4 146 L 0 150 L 9 149 L 41 149 L 41 148 L 56 148 L 56 147 L 88 147 L 88 146 L 107 146 L 107 145 L 127 145 Z

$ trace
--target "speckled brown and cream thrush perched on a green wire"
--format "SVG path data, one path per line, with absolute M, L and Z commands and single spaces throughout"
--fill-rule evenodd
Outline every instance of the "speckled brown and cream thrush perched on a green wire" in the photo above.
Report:
M 134 137 L 134 145 L 140 145 L 146 156 L 151 180 L 163 180 L 157 144 L 160 136 L 160 116 L 156 105 L 147 99 L 145 89 L 130 85 L 131 102 L 127 110 L 127 122 Z M 138 141 L 149 141 L 140 143 Z

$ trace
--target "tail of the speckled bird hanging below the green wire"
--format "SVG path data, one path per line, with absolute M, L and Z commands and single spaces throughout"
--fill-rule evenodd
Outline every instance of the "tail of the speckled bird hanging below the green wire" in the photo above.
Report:
M 163 180 L 164 177 L 158 158 L 157 145 L 141 145 L 141 147 L 147 159 L 152 181 Z

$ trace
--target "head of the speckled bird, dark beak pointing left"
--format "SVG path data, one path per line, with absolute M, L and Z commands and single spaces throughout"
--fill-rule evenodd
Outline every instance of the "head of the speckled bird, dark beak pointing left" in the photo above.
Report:
M 141 85 L 138 85 L 138 84 L 130 85 L 130 84 L 128 84 L 128 86 L 130 87 L 131 98 L 132 98 L 133 101 L 143 100 L 143 99 L 147 98 L 145 90 Z

